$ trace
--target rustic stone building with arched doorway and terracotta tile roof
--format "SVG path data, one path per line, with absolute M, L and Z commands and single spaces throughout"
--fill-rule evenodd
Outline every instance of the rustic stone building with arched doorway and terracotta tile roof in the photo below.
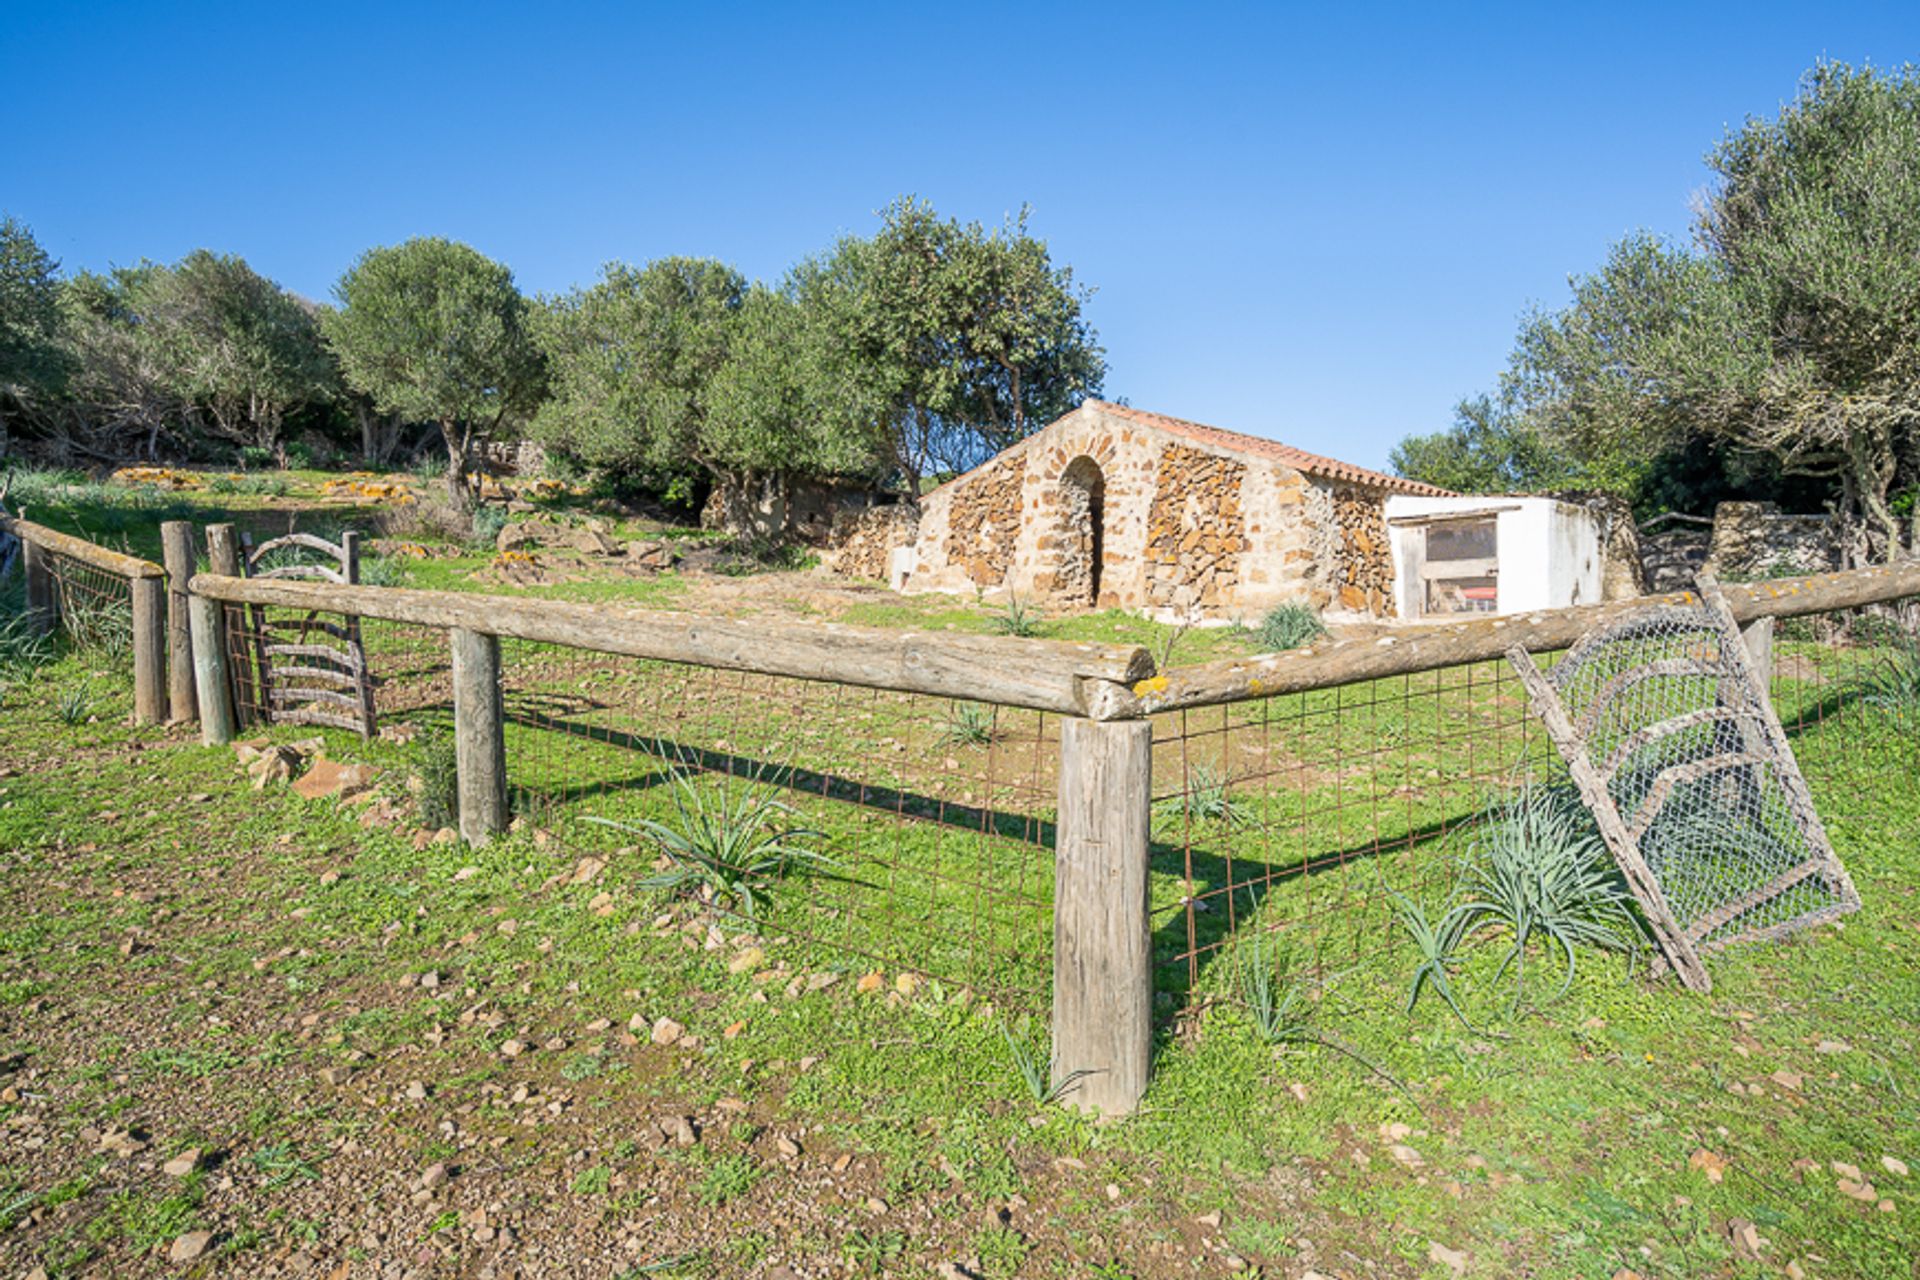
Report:
M 900 591 L 1018 595 L 1048 608 L 1254 618 L 1283 601 L 1394 612 L 1386 476 L 1158 413 L 1087 401 L 1058 422 L 851 533 L 843 570 L 893 543 Z

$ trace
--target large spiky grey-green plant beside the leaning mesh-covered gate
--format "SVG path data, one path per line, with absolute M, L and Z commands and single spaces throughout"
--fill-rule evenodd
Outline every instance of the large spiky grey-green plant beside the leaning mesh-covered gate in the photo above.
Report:
M 1555 1000 L 1572 986 L 1578 948 L 1638 956 L 1644 933 L 1634 898 L 1592 816 L 1569 787 L 1526 787 L 1496 804 L 1469 846 L 1465 902 L 1471 925 L 1507 931 L 1494 975 L 1513 969 L 1513 1007 L 1526 986 L 1526 948 L 1544 942 L 1565 961 Z

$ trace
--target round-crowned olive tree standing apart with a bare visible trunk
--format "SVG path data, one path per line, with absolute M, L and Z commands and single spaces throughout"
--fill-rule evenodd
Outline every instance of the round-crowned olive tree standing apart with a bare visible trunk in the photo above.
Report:
M 540 351 L 513 273 L 476 249 L 422 236 L 369 249 L 334 286 L 326 344 L 346 384 L 380 413 L 434 422 L 447 449 L 447 501 L 472 505 L 486 441 L 541 395 Z

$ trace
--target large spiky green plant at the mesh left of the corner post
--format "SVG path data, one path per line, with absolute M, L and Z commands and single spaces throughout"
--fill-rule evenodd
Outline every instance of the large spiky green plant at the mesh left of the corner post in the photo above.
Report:
M 780 798 L 764 770 L 739 783 L 705 785 L 685 760 L 668 770 L 674 819 L 593 821 L 637 835 L 672 865 L 641 881 L 641 889 L 693 892 L 724 912 L 758 921 L 772 887 L 795 871 L 826 873 L 837 864 L 820 852 L 826 835 L 793 825 L 793 806 Z

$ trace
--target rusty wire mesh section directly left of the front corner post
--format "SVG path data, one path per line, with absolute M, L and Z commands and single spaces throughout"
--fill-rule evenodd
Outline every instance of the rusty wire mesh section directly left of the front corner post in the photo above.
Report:
M 528 643 L 503 672 L 516 812 L 651 927 L 1044 1007 L 1046 716 Z

